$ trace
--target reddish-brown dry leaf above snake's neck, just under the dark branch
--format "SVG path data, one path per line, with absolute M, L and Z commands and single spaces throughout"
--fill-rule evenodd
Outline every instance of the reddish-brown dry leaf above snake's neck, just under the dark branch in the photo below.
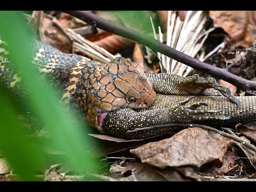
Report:
M 131 39 L 127 39 L 119 35 L 113 34 L 105 38 L 102 38 L 99 41 L 95 41 L 93 43 L 103 47 L 110 53 L 117 53 L 118 51 L 133 45 L 134 41 L 132 41 Z

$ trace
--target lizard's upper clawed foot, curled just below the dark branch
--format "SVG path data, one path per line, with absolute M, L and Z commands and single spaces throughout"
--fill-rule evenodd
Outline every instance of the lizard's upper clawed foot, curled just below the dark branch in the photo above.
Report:
M 217 96 L 223 95 L 224 97 L 228 98 L 231 102 L 236 103 L 236 105 L 241 107 L 241 102 L 236 99 L 234 95 L 231 95 L 231 91 L 228 87 L 220 85 L 216 82 L 215 78 L 212 77 L 199 77 L 199 75 L 195 74 L 189 77 L 185 77 L 182 79 L 181 83 L 183 86 L 187 87 L 187 91 L 189 94 L 202 94 L 207 96 Z M 213 88 L 217 90 L 216 93 L 207 93 L 205 92 L 206 89 Z

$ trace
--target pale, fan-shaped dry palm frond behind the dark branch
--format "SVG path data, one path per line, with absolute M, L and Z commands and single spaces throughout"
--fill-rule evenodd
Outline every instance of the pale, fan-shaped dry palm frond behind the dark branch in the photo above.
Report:
M 205 30 L 204 24 L 207 17 L 208 16 L 204 14 L 203 11 L 188 11 L 185 21 L 181 21 L 177 11 L 169 11 L 166 45 L 188 54 L 191 57 L 197 56 L 199 60 L 203 61 L 206 57 L 205 52 L 202 50 L 202 46 L 209 33 L 214 30 L 214 28 Z M 153 31 L 155 31 L 155 29 Z M 162 32 L 161 29 L 159 29 L 159 41 L 163 42 L 161 37 Z M 157 39 L 156 34 L 155 39 Z M 211 54 L 215 51 L 218 51 L 218 49 L 215 48 Z M 159 60 L 162 62 L 161 71 L 166 71 L 167 73 L 175 75 L 187 76 L 190 71 L 193 70 L 193 68 L 173 60 L 166 55 L 160 53 L 157 53 L 157 55 Z M 210 55 L 207 54 L 207 57 L 209 56 Z

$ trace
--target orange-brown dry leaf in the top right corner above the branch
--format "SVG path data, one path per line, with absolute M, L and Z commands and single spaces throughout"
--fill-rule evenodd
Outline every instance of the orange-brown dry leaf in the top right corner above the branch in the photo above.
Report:
M 256 39 L 256 11 L 210 11 L 214 27 L 221 27 L 236 41 L 249 47 Z

